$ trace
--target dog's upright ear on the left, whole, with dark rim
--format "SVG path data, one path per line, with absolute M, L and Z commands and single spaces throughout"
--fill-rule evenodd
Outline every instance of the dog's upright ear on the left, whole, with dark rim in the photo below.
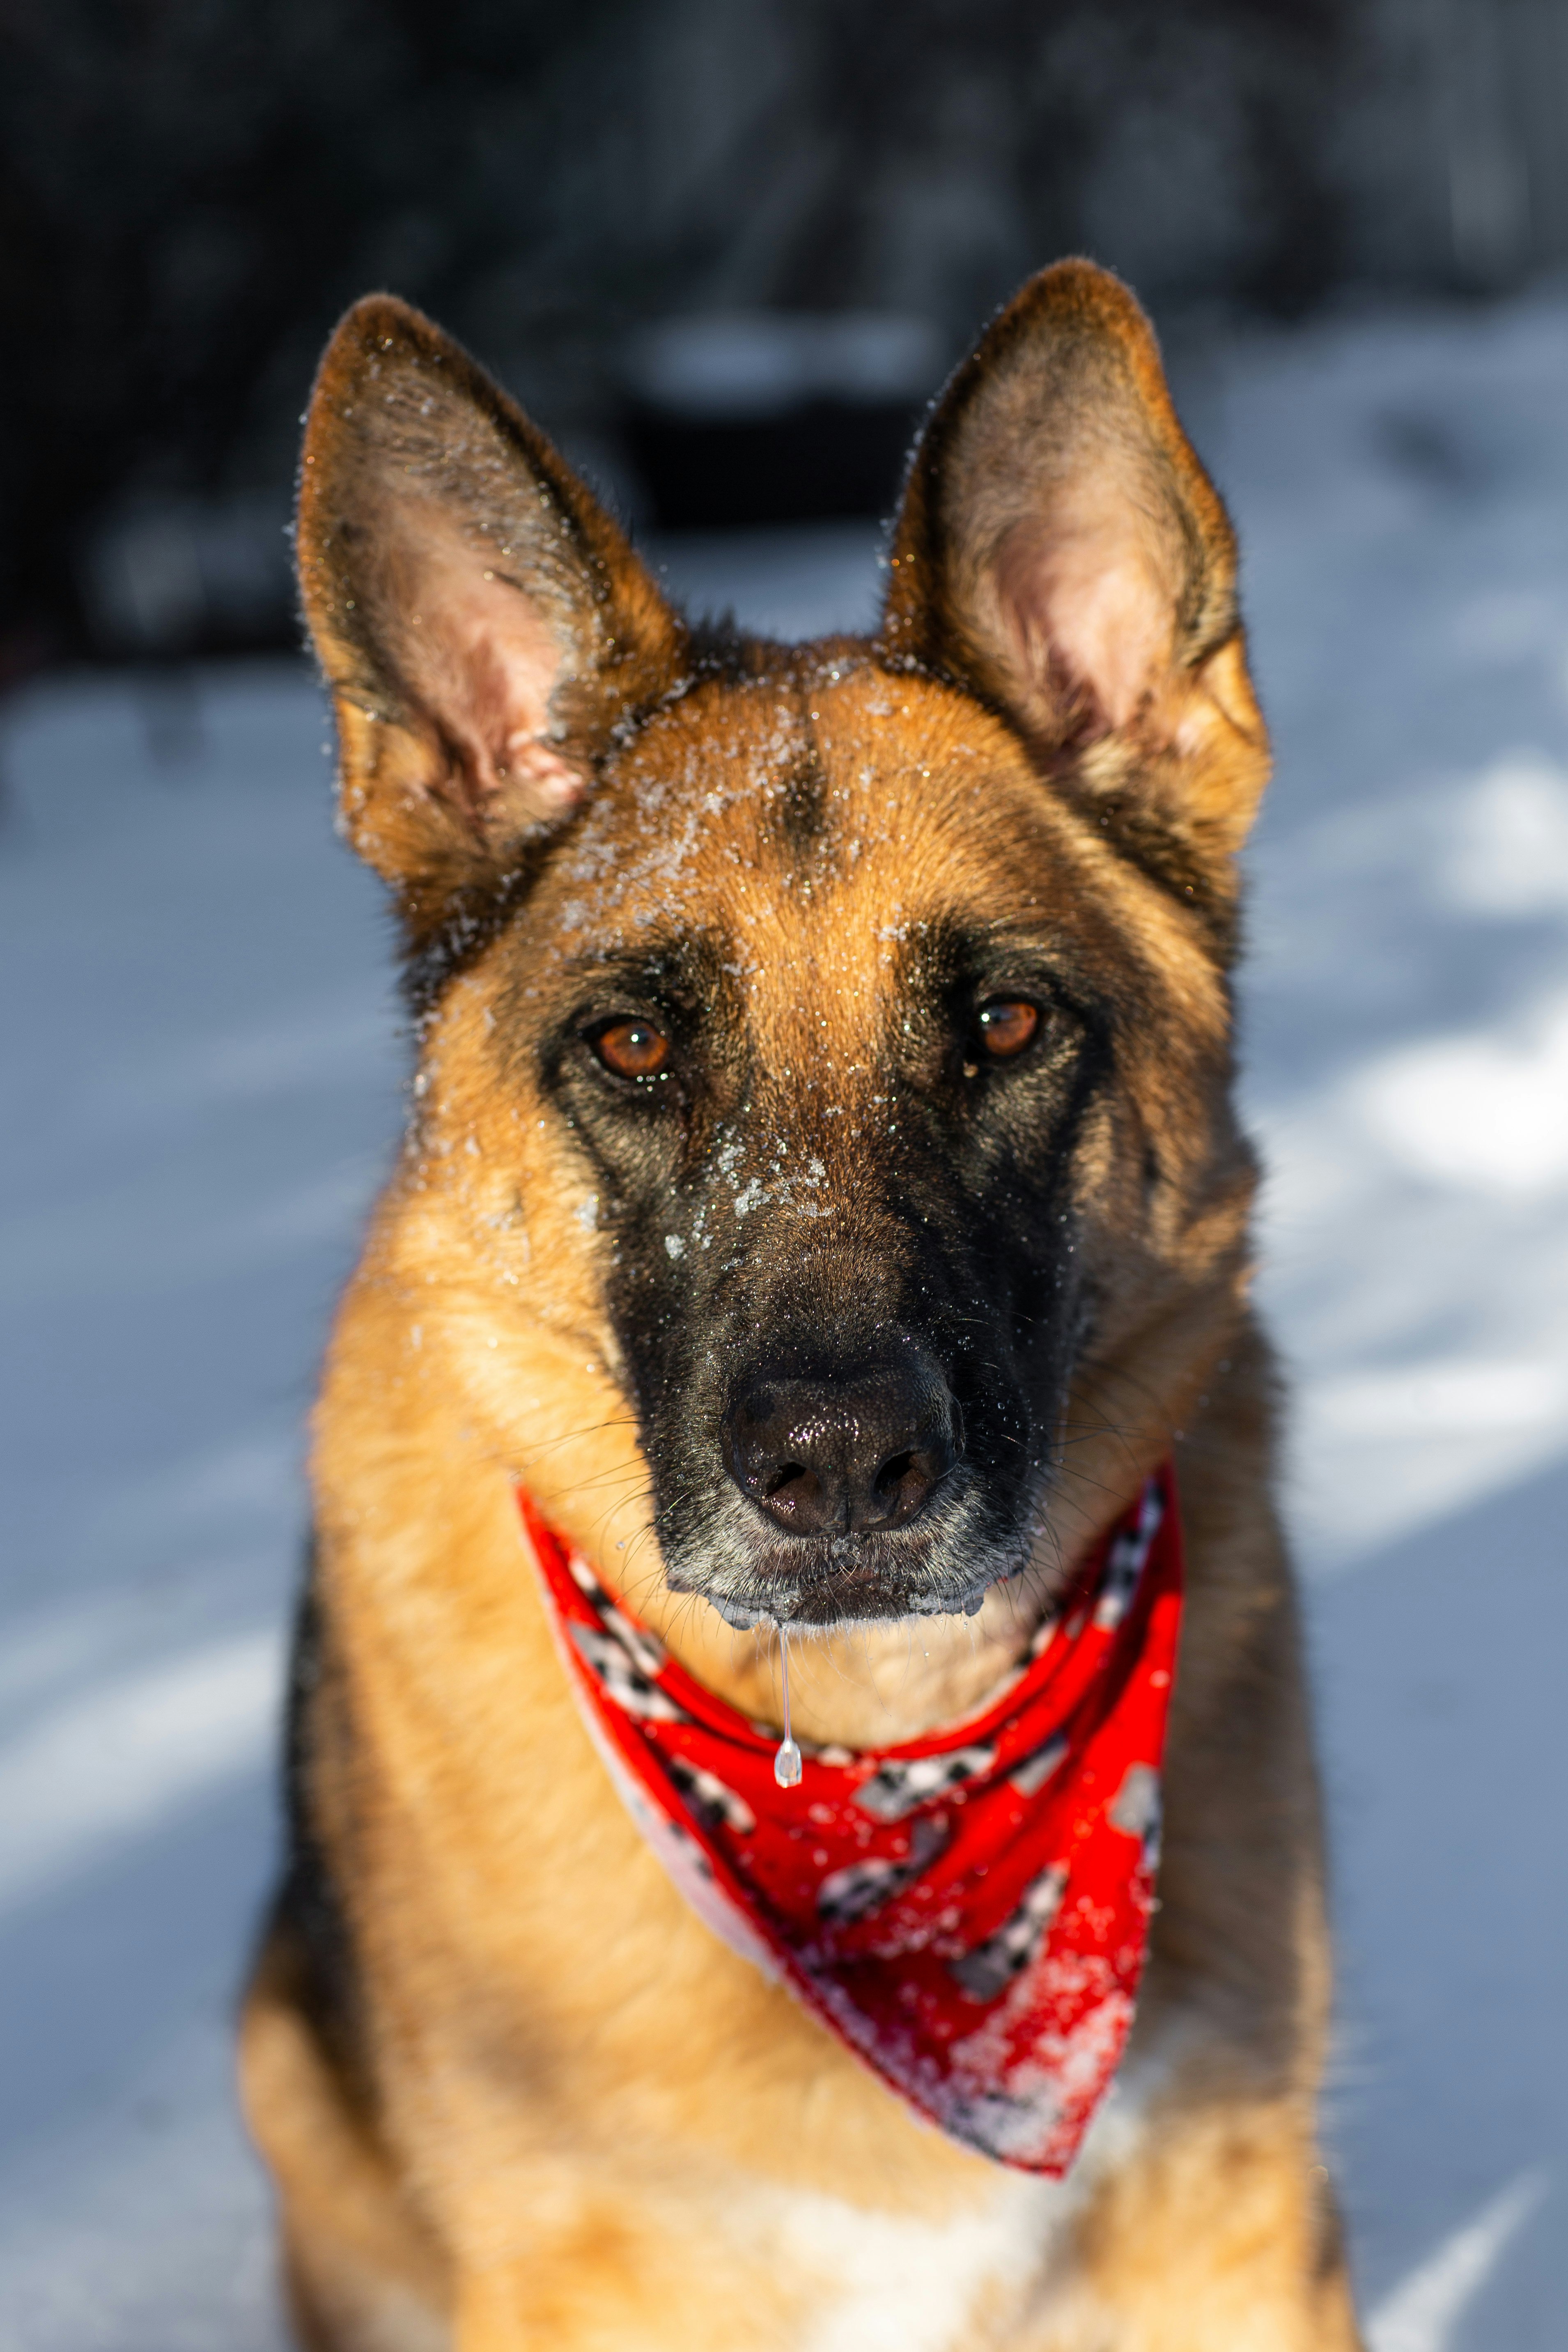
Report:
M 315 383 L 306 619 L 339 713 L 343 828 L 430 920 L 581 800 L 682 626 L 611 517 L 489 376 L 386 294 Z

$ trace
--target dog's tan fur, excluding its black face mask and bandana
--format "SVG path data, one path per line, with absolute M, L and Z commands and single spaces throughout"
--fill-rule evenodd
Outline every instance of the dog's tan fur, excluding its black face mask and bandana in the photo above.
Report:
M 435 419 L 428 510 L 407 466 L 376 487 L 381 442 L 355 435 L 378 386 Z M 364 569 L 346 517 L 376 499 L 388 548 Z M 1328 1959 L 1272 1374 L 1246 1308 L 1253 1176 L 1222 1108 L 1229 854 L 1267 750 L 1229 527 L 1135 303 L 1065 263 L 954 379 L 877 649 L 762 649 L 748 675 L 691 682 L 684 628 L 614 524 L 386 301 L 350 313 L 324 365 L 301 567 L 348 826 L 411 938 L 487 889 L 522 908 L 435 995 L 315 1423 L 306 1790 L 355 1990 L 327 2046 L 284 1924 L 244 2023 L 306 2343 L 837 2352 L 835 2326 L 879 2307 L 877 2263 L 903 2310 L 919 2249 L 957 2314 L 917 2296 L 907 2326 L 945 2331 L 931 2352 L 1352 2352 L 1312 2138 Z M 792 851 L 802 746 L 830 837 Z M 1154 830 L 1159 875 L 1140 863 Z M 773 1646 L 663 1583 L 592 1169 L 515 1040 L 550 974 L 654 920 L 738 943 L 748 1117 L 820 1169 L 830 1214 L 806 1242 L 853 1277 L 900 1247 L 863 1183 L 872 1143 L 898 1148 L 879 1021 L 952 906 L 1145 974 L 1147 1021 L 1074 1174 L 1103 1312 L 1030 1573 L 976 1621 L 802 1644 L 795 1712 L 813 1738 L 886 1745 L 976 1705 L 1175 1444 L 1190 1609 L 1161 1912 L 1126 2098 L 1060 2190 L 917 2124 L 684 1907 L 581 1729 L 512 1501 L 527 1482 L 693 1672 L 776 1717 Z

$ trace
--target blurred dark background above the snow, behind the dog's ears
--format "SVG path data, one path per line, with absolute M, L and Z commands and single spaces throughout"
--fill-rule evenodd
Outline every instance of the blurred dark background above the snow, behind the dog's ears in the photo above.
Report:
M 2 0 L 0 677 L 294 640 L 334 315 L 632 522 L 886 510 L 1041 261 L 1178 339 L 1568 259 L 1568 0 Z

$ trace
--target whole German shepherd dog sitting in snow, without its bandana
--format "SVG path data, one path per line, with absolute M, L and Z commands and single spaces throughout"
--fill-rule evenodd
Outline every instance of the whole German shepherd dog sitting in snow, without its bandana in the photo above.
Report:
M 1229 1098 L 1269 755 L 1143 310 L 1065 261 L 990 327 L 870 640 L 686 623 L 383 296 L 320 372 L 299 564 L 418 1040 L 315 1418 L 242 2027 L 301 2340 L 1352 2352 Z M 809 1802 L 813 1750 L 983 1708 L 1166 1461 L 1159 1905 L 1056 2180 L 914 2117 L 682 1898 L 517 1491 L 771 1738 L 795 1635 Z

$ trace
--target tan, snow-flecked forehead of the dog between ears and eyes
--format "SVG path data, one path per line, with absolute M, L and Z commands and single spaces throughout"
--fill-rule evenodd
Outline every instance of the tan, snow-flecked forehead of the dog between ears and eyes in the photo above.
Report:
M 1006 727 L 924 677 L 799 659 L 689 694 L 555 861 L 541 946 L 712 943 L 752 1000 L 865 1004 L 922 943 L 1074 920 L 1072 828 Z

